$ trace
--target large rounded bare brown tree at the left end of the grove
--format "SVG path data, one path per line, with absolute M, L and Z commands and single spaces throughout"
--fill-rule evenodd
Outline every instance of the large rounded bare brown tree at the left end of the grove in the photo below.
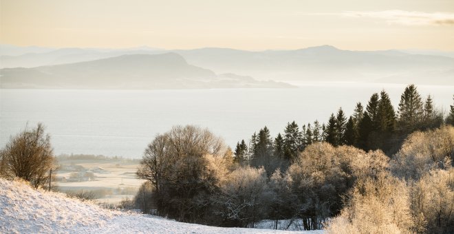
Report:
M 231 151 L 208 129 L 176 126 L 149 144 L 137 172 L 155 187 L 161 215 L 185 222 L 201 220 L 210 211 L 232 162 Z

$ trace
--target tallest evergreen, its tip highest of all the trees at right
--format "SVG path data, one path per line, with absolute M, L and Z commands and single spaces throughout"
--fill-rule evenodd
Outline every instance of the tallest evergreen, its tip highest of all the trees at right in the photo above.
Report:
M 415 85 L 407 86 L 400 96 L 398 114 L 398 126 L 401 131 L 411 132 L 420 127 L 424 109 Z

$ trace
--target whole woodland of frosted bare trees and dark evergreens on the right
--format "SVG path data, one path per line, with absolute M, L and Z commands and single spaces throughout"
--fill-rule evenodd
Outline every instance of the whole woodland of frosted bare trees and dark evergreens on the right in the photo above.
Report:
M 447 114 L 408 85 L 352 116 L 267 127 L 232 151 L 208 129 L 176 126 L 148 145 L 133 206 L 182 222 L 254 227 L 301 220 L 334 233 L 452 233 L 454 105 Z

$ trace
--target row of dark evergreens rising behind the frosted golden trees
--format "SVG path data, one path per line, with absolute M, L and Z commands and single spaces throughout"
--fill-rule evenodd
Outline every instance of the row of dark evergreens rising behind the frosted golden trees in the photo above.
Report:
M 365 108 L 362 103 L 356 103 L 354 113 L 348 118 L 340 107 L 326 124 L 315 120 L 300 129 L 293 121 L 274 139 L 268 127 L 263 127 L 248 142 L 237 142 L 235 156 L 239 162 L 250 164 L 257 164 L 255 161 L 268 155 L 292 162 L 313 142 L 328 142 L 334 147 L 351 145 L 365 151 L 380 149 L 392 156 L 411 132 L 454 124 L 453 107 L 444 118 L 442 111 L 433 106 L 432 96 L 423 101 L 415 85 L 404 89 L 396 110 L 387 92 L 382 90 L 371 95 Z

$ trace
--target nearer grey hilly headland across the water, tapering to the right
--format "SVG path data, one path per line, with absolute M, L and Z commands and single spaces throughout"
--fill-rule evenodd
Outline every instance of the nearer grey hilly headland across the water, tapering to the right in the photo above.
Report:
M 250 77 L 217 76 L 175 53 L 127 54 L 95 61 L 0 70 L 1 88 L 201 89 L 292 87 Z

